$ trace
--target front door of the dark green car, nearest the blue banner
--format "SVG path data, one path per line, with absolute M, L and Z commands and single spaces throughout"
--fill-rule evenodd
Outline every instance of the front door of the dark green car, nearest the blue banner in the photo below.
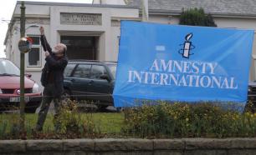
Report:
M 108 75 L 104 65 L 93 64 L 90 71 L 90 82 L 87 91 L 91 94 L 90 98 L 100 102 L 110 102 L 112 83 L 100 78 L 101 75 Z

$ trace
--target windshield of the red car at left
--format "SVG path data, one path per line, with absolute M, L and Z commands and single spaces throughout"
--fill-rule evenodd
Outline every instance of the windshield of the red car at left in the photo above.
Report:
M 8 60 L 0 60 L 0 76 L 19 76 L 19 68 Z

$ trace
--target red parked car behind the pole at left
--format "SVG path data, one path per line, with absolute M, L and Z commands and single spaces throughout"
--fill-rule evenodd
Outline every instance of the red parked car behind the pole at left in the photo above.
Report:
M 20 71 L 13 62 L 0 58 L 0 111 L 19 108 Z M 40 105 L 42 95 L 40 88 L 30 75 L 25 76 L 25 112 L 35 112 Z

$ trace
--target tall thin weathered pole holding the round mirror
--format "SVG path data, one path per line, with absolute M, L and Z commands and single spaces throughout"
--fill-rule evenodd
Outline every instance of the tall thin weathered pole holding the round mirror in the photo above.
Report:
M 20 37 L 25 37 L 25 9 L 24 2 L 21 2 L 20 7 Z M 24 53 L 20 52 L 20 132 L 25 133 L 25 101 L 24 101 Z

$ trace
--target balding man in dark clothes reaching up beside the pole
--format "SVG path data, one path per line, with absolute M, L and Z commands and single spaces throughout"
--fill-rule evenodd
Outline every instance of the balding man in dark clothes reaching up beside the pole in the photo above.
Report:
M 40 28 L 41 43 L 45 51 L 45 65 L 41 76 L 41 82 L 44 86 L 43 100 L 40 111 L 38 113 L 38 122 L 36 131 L 42 131 L 46 115 L 49 111 L 49 105 L 54 101 L 55 115 L 59 115 L 60 98 L 64 92 L 64 68 L 68 64 L 66 57 L 67 47 L 63 43 L 57 44 L 54 49 L 49 46 L 49 43 L 44 36 L 44 28 Z M 55 130 L 59 131 L 59 123 L 55 125 Z

